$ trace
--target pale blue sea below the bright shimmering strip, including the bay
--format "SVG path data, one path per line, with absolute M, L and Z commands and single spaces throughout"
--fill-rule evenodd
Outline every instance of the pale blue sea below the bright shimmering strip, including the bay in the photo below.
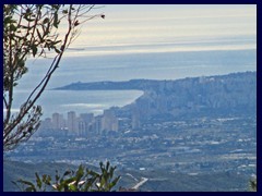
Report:
M 35 82 L 44 75 L 48 63 L 48 60 L 31 61 L 29 73 L 16 90 L 14 111 L 19 108 L 19 102 L 28 95 Z M 118 54 L 116 52 L 102 56 L 85 56 L 82 51 L 82 53 L 79 52 L 79 57 L 71 56 L 63 59 L 48 89 L 74 82 L 176 79 L 255 70 L 257 51 L 254 49 Z M 112 106 L 121 107 L 131 103 L 142 94 L 139 90 L 46 90 L 38 103 L 43 106 L 44 117 L 50 117 L 53 112 L 68 111 L 99 114 L 104 109 Z

